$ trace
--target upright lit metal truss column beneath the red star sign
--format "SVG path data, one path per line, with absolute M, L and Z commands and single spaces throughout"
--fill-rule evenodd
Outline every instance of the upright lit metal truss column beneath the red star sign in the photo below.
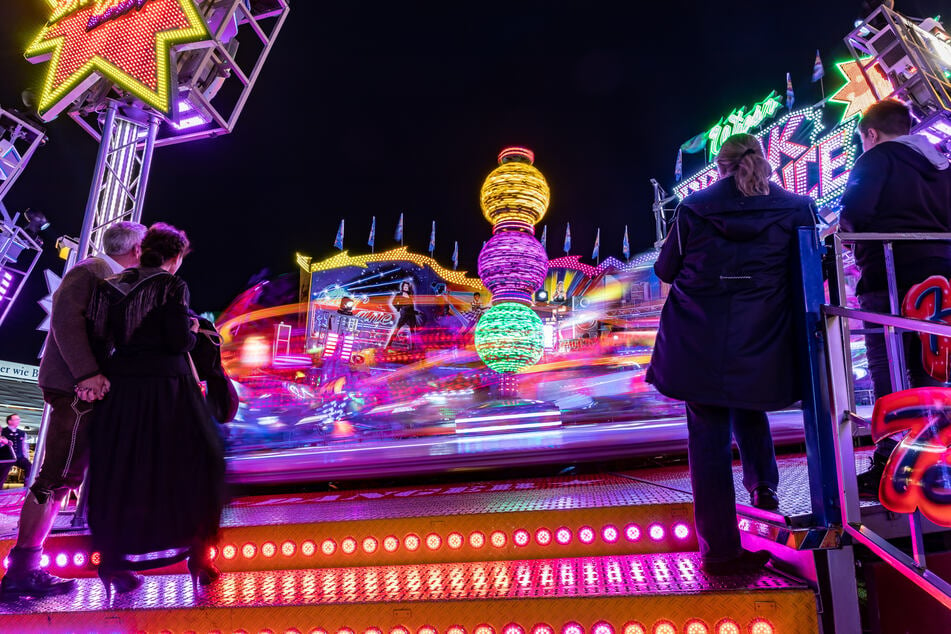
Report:
M 142 217 L 159 123 L 157 115 L 120 112 L 120 105 L 110 102 L 79 236 L 79 260 L 102 250 L 102 235 L 111 225 Z

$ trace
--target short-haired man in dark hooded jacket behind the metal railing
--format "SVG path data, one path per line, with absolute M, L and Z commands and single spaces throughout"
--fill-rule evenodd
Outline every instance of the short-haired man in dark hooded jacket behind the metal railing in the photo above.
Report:
M 850 233 L 951 232 L 951 169 L 948 159 L 923 136 L 909 134 L 911 115 L 904 104 L 886 100 L 865 111 L 859 123 L 862 149 L 842 196 L 839 226 Z M 853 246 L 861 271 L 856 295 L 863 310 L 891 313 L 885 253 L 880 242 Z M 931 275 L 951 275 L 951 244 L 939 241 L 896 242 L 895 278 L 898 305 L 908 289 Z M 875 324 L 868 324 L 874 328 Z M 911 387 L 938 385 L 921 364 L 915 333 L 903 337 L 907 380 Z M 865 336 L 875 398 L 891 393 L 885 337 Z M 900 380 L 901 377 L 897 377 Z M 900 386 L 899 386 L 900 389 Z M 859 492 L 877 498 L 888 456 L 896 441 L 876 447 L 871 468 L 859 475 Z

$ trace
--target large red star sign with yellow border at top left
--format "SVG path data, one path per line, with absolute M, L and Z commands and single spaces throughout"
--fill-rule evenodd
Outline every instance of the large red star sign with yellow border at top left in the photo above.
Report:
M 193 0 L 50 0 L 50 21 L 26 50 L 49 60 L 39 111 L 51 119 L 100 77 L 171 114 L 171 48 L 210 38 Z

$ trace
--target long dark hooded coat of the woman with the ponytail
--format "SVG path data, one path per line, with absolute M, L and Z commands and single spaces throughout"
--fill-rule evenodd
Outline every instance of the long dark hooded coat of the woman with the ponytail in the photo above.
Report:
M 654 271 L 671 284 L 647 381 L 688 402 L 752 410 L 802 398 L 795 339 L 797 229 L 812 200 L 770 183 L 744 197 L 733 178 L 688 196 Z

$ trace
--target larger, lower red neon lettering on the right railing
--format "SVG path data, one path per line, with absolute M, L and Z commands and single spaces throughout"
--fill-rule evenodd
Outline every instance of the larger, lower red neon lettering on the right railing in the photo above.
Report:
M 951 494 L 944 486 L 951 453 L 951 389 L 923 387 L 875 402 L 872 437 L 907 431 L 885 464 L 882 505 L 895 513 L 917 508 L 935 524 L 951 526 Z

